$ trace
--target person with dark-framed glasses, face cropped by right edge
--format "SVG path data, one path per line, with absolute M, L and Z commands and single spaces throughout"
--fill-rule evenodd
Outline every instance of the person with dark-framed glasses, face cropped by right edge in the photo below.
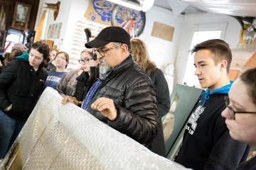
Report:
M 254 149 L 256 149 L 255 84 L 256 68 L 248 69 L 231 86 L 228 96 L 225 97 L 227 108 L 221 114 L 225 118 L 230 136 Z M 256 169 L 256 157 L 240 164 L 238 169 Z

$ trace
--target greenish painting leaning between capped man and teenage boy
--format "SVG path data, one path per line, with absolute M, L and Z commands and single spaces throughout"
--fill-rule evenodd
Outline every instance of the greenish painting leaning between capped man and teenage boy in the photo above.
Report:
M 176 84 L 172 91 L 170 111 L 162 118 L 167 159 L 174 160 L 181 146 L 188 118 L 202 92 L 203 89 L 181 84 Z

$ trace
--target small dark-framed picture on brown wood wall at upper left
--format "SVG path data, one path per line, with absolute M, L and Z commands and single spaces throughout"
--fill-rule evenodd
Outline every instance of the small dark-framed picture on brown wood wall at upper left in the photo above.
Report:
M 21 2 L 16 2 L 14 10 L 14 18 L 11 23 L 12 28 L 18 30 L 26 30 L 28 27 L 29 15 L 31 12 L 31 6 L 28 4 L 23 4 Z

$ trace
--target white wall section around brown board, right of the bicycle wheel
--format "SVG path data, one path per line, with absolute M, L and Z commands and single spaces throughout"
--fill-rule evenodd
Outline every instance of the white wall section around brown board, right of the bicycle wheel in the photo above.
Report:
M 148 47 L 151 60 L 154 61 L 156 66 L 163 72 L 167 64 L 175 63 L 183 20 L 183 15 L 174 17 L 171 11 L 164 8 L 153 7 L 149 11 L 146 11 L 146 26 L 144 33 L 140 35 L 139 38 L 144 40 Z M 172 42 L 151 36 L 154 21 L 174 27 Z

